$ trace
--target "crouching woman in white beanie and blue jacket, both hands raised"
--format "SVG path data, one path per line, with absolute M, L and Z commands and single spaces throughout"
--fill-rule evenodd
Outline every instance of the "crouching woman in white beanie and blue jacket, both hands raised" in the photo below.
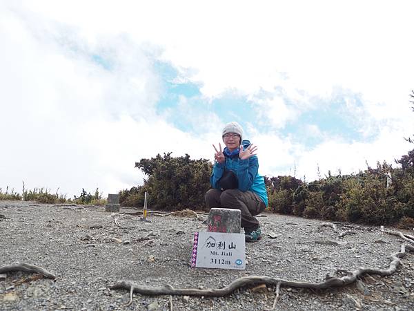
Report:
M 221 151 L 219 144 L 217 150 L 213 144 L 216 151 L 210 177 L 213 189 L 206 193 L 206 205 L 208 208 L 240 209 L 246 241 L 255 242 L 262 238 L 255 216 L 268 205 L 264 178 L 257 173 L 257 147 L 242 140 L 243 129 L 237 122 L 226 124 L 221 135 L 226 148 Z

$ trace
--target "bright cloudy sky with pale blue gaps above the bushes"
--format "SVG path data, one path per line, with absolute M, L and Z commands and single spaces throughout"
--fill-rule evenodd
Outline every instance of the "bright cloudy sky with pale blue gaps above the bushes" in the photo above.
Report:
M 413 1 L 139 2 L 1 1 L 0 187 L 116 193 L 233 120 L 266 176 L 413 149 Z

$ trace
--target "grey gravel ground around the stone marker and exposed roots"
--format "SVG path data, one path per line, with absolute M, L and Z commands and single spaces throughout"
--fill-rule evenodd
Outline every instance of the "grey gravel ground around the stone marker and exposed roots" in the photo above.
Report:
M 402 240 L 379 228 L 337 224 L 264 213 L 264 238 L 246 244 L 246 270 L 193 269 L 193 234 L 206 231 L 199 220 L 178 216 L 121 214 L 104 207 L 39 205 L 0 201 L 0 266 L 29 263 L 57 276 L 9 272 L 0 278 L 0 310 L 170 310 L 170 296 L 110 290 L 121 279 L 157 287 L 223 288 L 242 276 L 290 281 L 324 281 L 337 269 L 387 268 Z M 117 223 L 115 223 L 115 218 Z M 355 234 L 339 238 L 339 233 Z M 411 232 L 411 234 L 413 234 Z M 270 237 L 272 236 L 272 237 Z M 324 245 L 315 241 L 334 241 Z M 264 310 L 275 288 L 244 288 L 226 297 L 172 296 L 173 310 Z M 402 258 L 392 276 L 364 276 L 346 288 L 312 291 L 281 288 L 277 310 L 414 310 L 414 254 Z

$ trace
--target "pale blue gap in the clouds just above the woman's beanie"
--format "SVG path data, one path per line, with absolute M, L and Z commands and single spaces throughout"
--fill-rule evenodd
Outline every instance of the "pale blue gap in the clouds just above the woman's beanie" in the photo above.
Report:
M 191 116 L 214 113 L 223 123 L 234 120 L 245 129 L 248 123 L 254 124 L 262 133 L 277 132 L 282 137 L 290 137 L 296 143 L 304 144 L 307 149 L 313 149 L 328 138 L 338 138 L 342 142 L 368 142 L 374 138 L 374 135 L 364 137 L 362 131 L 359 131 L 361 126 L 364 126 L 364 116 L 357 114 L 358 111 L 364 111 L 359 95 L 341 88 L 335 89 L 331 97 L 311 98 L 313 104 L 303 105 L 306 108 L 299 111 L 299 116 L 295 120 L 288 120 L 282 128 L 275 130 L 271 124 L 260 120 L 257 104 L 248 100 L 246 95 L 230 90 L 213 99 L 203 97 L 200 92 L 201 85 L 179 77 L 178 70 L 170 64 L 155 62 L 154 68 L 161 77 L 163 88 L 157 103 L 157 113 L 165 115 L 167 120 L 181 131 L 202 131 L 197 120 Z M 282 97 L 288 107 L 299 109 L 301 105 L 298 106 L 298 103 L 286 97 L 282 88 L 275 90 L 276 96 Z M 271 100 L 274 96 L 274 93 L 259 95 L 261 100 Z M 347 102 L 351 102 L 351 105 L 347 105 Z M 266 115 L 266 111 L 262 111 L 262 115 Z

